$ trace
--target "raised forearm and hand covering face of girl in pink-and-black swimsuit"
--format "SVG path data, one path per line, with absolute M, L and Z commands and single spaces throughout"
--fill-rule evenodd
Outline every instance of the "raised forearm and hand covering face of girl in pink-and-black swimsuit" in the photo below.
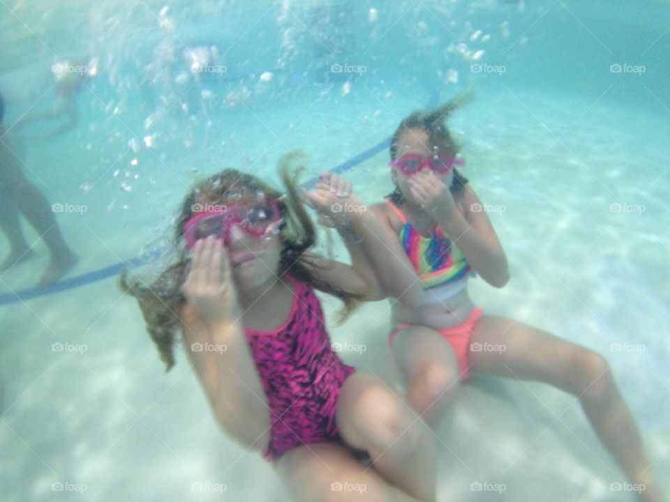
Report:
M 245 447 L 265 446 L 259 440 L 269 428 L 269 409 L 220 241 L 196 244 L 182 291 L 186 353 L 218 424 Z

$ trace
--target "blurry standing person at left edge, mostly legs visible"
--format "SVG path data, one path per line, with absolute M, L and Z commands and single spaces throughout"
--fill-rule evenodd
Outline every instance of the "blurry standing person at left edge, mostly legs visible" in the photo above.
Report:
M 10 251 L 0 262 L 0 272 L 29 259 L 34 252 L 21 229 L 19 213 L 36 230 L 49 248 L 51 261 L 38 282 L 45 287 L 59 280 L 77 263 L 77 255 L 68 248 L 47 199 L 28 181 L 21 169 L 17 149 L 8 142 L 3 126 L 4 102 L 0 96 L 0 229 L 6 234 Z

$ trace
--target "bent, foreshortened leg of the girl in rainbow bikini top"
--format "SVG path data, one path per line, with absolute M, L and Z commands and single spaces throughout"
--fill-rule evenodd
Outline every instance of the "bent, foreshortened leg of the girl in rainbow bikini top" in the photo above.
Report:
M 391 350 L 407 388 L 407 400 L 428 425 L 437 428 L 461 382 L 452 347 L 435 330 L 408 326 L 396 334 Z

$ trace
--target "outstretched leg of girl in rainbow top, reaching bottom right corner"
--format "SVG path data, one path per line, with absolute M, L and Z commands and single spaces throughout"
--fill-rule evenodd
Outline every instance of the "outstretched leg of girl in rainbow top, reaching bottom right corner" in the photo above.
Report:
M 470 352 L 470 371 L 543 381 L 576 396 L 600 441 L 630 482 L 646 486 L 640 499 L 661 500 L 633 417 L 599 353 L 494 316 L 479 320 L 472 342 L 500 345 L 504 350 Z

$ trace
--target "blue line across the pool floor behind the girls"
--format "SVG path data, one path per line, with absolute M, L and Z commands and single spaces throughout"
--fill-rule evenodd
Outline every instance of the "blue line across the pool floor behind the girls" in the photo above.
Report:
M 429 103 L 426 105 L 426 108 L 431 108 L 435 106 L 435 103 L 438 101 L 438 94 L 433 93 Z M 373 158 L 375 155 L 389 148 L 391 145 L 391 137 L 387 137 L 382 142 L 379 142 L 375 146 L 365 151 L 362 151 L 355 157 L 350 158 L 349 160 L 341 163 L 330 169 L 330 172 L 334 174 L 341 174 L 347 172 L 352 167 L 355 167 L 362 162 L 365 162 L 369 158 Z M 302 187 L 311 187 L 315 185 L 317 178 L 312 178 L 305 183 L 301 183 Z M 67 289 L 73 289 L 75 287 L 85 286 L 86 284 L 91 284 L 93 282 L 106 279 L 107 277 L 112 277 L 121 273 L 124 268 L 137 268 L 144 264 L 149 263 L 151 260 L 156 259 L 165 252 L 165 249 L 154 250 L 143 254 L 140 257 L 135 257 L 128 259 L 126 261 L 119 261 L 119 263 L 110 265 L 104 268 L 98 268 L 98 270 L 84 273 L 82 275 L 77 275 L 75 277 L 70 277 L 69 279 L 59 280 L 50 284 L 47 287 L 43 288 L 28 288 L 20 289 L 19 291 L 10 291 L 9 293 L 0 294 L 0 305 L 10 305 L 11 303 L 17 303 L 20 301 L 31 300 L 32 298 L 38 298 L 40 296 L 47 296 L 50 294 L 58 293 L 59 291 L 66 291 Z

